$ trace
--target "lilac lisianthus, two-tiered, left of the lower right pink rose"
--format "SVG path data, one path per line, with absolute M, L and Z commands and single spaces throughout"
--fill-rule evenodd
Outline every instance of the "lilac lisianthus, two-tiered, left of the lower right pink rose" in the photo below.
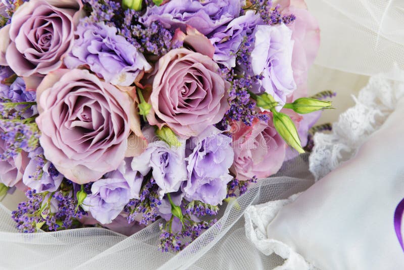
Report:
M 233 178 L 229 168 L 234 152 L 231 138 L 209 126 L 186 145 L 188 180 L 182 184 L 185 198 L 218 205 L 226 198 L 227 183 Z

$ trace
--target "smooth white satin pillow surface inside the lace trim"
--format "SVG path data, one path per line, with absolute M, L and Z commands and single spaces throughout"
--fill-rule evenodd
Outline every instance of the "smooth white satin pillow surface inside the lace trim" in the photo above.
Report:
M 404 269 L 394 227 L 403 198 L 401 99 L 358 154 L 284 206 L 266 234 L 320 269 Z

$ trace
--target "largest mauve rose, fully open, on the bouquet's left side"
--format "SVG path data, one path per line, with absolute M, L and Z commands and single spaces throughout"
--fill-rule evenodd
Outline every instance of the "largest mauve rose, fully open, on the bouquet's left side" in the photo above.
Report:
M 47 160 L 77 184 L 96 181 L 124 159 L 133 100 L 87 70 L 59 69 L 37 89 L 40 144 Z

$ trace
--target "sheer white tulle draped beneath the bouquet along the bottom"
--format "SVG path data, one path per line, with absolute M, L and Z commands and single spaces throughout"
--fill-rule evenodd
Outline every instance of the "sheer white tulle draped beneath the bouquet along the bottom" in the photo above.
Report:
M 281 175 L 281 176 L 280 176 Z M 243 214 L 252 204 L 286 199 L 314 183 L 308 156 L 286 162 L 231 202 L 219 221 L 178 254 L 158 250 L 159 222 L 126 237 L 100 228 L 21 234 L 0 203 L 0 269 L 268 269 L 283 264 L 245 236 Z

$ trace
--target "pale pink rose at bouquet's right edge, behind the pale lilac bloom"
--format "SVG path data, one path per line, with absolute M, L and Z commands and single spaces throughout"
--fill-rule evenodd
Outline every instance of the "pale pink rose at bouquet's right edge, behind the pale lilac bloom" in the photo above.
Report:
M 285 7 L 282 14 L 296 15 L 296 20 L 287 25 L 292 30 L 294 40 L 292 69 L 297 85 L 296 90 L 287 99 L 287 102 L 291 102 L 307 96 L 308 71 L 320 47 L 320 28 L 316 18 L 307 10 L 304 0 L 282 0 L 279 4 Z

